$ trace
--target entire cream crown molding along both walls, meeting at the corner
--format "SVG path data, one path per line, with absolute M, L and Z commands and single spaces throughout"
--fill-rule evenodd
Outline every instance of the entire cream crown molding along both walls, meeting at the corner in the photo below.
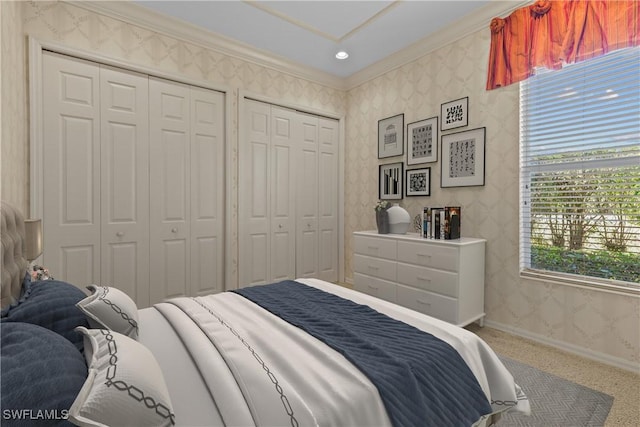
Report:
M 218 33 L 157 13 L 131 1 L 64 1 L 91 12 L 193 43 L 233 58 L 344 91 L 358 87 L 369 80 L 402 67 L 476 31 L 486 29 L 491 19 L 496 16 L 506 16 L 519 7 L 531 4 L 531 0 L 493 0 L 477 12 L 411 44 L 409 47 L 389 55 L 385 59 L 347 78 L 340 78 Z

